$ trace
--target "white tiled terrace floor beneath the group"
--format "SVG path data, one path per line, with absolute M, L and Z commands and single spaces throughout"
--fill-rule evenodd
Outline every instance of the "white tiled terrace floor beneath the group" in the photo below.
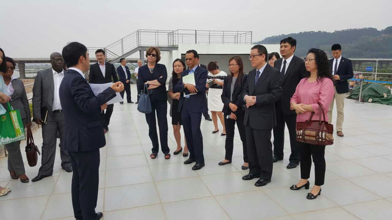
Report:
M 133 100 L 135 94 L 132 85 Z M 191 165 L 183 164 L 186 158 L 182 155 L 165 160 L 160 153 L 157 159 L 150 159 L 151 141 L 144 115 L 136 110 L 136 104 L 117 104 L 106 135 L 107 146 L 101 149 L 96 211 L 103 211 L 105 220 L 390 220 L 392 106 L 359 105 L 349 99 L 345 103 L 345 137 L 335 137 L 335 144 L 327 146 L 326 182 L 316 200 L 305 198 L 307 190 L 289 189 L 298 182 L 300 171 L 285 168 L 290 153 L 288 133 L 285 158 L 274 164 L 272 182 L 257 188 L 253 185 L 256 180 L 241 180 L 247 172 L 241 170 L 238 132 L 232 164 L 218 166 L 225 153 L 225 138 L 220 133 L 211 134 L 212 122 L 203 119 L 206 166 L 192 171 Z M 169 116 L 168 122 L 169 148 L 173 151 L 176 143 Z M 34 132 L 34 140 L 42 145 L 41 130 Z M 21 146 L 23 155 L 23 142 Z M 72 174 L 61 170 L 59 151 L 56 153 L 53 177 L 28 184 L 10 180 L 7 158 L 0 159 L 0 186 L 12 189 L 0 197 L 2 220 L 74 219 Z M 25 167 L 32 179 L 39 165 L 31 168 L 26 162 Z M 310 183 L 314 184 L 314 175 Z

